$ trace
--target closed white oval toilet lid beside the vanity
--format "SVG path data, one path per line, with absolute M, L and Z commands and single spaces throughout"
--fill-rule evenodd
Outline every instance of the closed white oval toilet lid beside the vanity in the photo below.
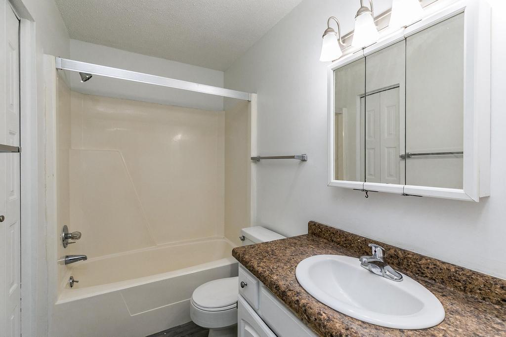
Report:
M 237 303 L 238 277 L 222 278 L 202 284 L 193 291 L 191 300 L 201 309 L 227 309 Z

